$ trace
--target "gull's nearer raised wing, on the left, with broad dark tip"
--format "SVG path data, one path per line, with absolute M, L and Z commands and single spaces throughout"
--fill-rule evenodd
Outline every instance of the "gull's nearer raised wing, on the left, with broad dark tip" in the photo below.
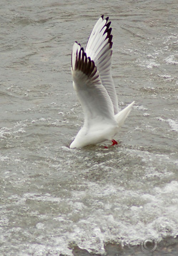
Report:
M 84 125 L 90 126 L 106 120 L 115 122 L 114 109 L 108 92 L 102 85 L 95 62 L 74 43 L 72 49 L 73 87 L 85 115 Z

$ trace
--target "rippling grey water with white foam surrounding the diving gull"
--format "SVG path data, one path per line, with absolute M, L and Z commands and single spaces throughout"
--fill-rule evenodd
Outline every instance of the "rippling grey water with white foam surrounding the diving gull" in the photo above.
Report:
M 110 16 L 118 146 L 68 148 L 83 123 L 71 50 Z M 0 255 L 105 254 L 178 235 L 178 2 L 0 2 Z

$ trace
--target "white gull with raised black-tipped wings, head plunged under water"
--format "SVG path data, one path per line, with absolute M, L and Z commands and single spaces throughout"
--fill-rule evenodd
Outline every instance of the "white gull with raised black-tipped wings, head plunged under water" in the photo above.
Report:
M 73 88 L 81 103 L 84 124 L 70 148 L 111 140 L 118 133 L 134 101 L 119 112 L 116 89 L 111 74 L 112 34 L 109 17 L 102 15 L 94 26 L 86 49 L 74 43 L 71 62 Z M 107 147 L 105 147 L 107 148 Z

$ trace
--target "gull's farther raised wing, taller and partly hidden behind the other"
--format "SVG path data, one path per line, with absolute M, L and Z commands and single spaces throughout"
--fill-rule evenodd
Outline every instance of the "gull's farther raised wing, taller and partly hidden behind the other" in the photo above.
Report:
M 113 43 L 110 25 L 111 21 L 108 22 L 108 17 L 104 19 L 102 15 L 91 32 L 85 52 L 95 62 L 101 82 L 111 98 L 116 115 L 119 110 L 116 89 L 111 74 Z

